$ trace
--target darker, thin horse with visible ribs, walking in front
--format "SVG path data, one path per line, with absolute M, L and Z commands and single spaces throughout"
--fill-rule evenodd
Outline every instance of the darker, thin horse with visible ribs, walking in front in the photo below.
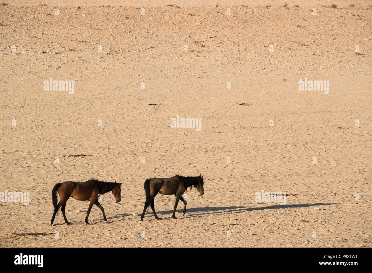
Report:
M 187 188 L 195 187 L 200 195 L 204 194 L 204 181 L 203 176 L 180 176 L 176 175 L 170 178 L 150 178 L 145 181 L 144 188 L 146 193 L 146 201 L 145 207 L 142 212 L 141 221 L 145 217 L 145 212 L 148 206 L 150 205 L 153 209 L 155 219 L 156 220 L 163 220 L 156 215 L 155 206 L 154 206 L 154 198 L 155 196 L 160 193 L 164 195 L 171 195 L 174 194 L 176 196 L 176 203 L 174 204 L 173 219 L 176 218 L 176 209 L 178 205 L 178 201 L 181 200 L 183 204 L 185 204 L 185 208 L 183 209 L 182 216 L 186 213 L 186 201 L 182 198 L 183 193 L 186 191 Z

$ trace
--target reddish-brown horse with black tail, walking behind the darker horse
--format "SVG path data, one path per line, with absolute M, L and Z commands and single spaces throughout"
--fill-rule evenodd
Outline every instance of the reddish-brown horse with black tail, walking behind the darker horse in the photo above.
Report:
M 60 195 L 60 202 L 57 204 L 57 191 Z M 89 207 L 87 212 L 87 217 L 85 217 L 85 222 L 87 225 L 88 223 L 88 216 L 90 213 L 90 210 L 92 209 L 93 204 L 96 204 L 97 207 L 99 207 L 103 213 L 103 219 L 107 222 L 107 218 L 105 215 L 105 211 L 103 210 L 101 204 L 99 204 L 98 199 L 101 195 L 105 194 L 106 192 L 112 191 L 113 196 L 116 199 L 116 202 L 120 202 L 121 200 L 121 183 L 112 183 L 112 182 L 105 182 L 105 181 L 99 181 L 97 179 L 91 179 L 86 182 L 72 182 L 72 181 L 66 181 L 63 183 L 57 183 L 54 185 L 52 190 L 52 199 L 53 199 L 53 206 L 54 206 L 54 212 L 52 220 L 50 221 L 50 225 L 53 225 L 54 217 L 58 212 L 58 209 L 61 208 L 63 218 L 65 219 L 66 224 L 70 224 L 67 221 L 66 215 L 65 215 L 65 207 L 66 202 L 70 196 L 76 200 L 80 201 L 87 201 L 89 200 Z

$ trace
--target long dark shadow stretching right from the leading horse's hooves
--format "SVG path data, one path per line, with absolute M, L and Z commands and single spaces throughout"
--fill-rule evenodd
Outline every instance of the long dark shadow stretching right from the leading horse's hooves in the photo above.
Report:
M 226 212 L 231 213 L 239 213 L 239 212 L 245 212 L 245 211 L 262 211 L 264 209 L 284 209 L 284 208 L 306 208 L 306 207 L 312 207 L 312 206 L 326 206 L 326 205 L 334 205 L 338 203 L 314 203 L 314 204 L 294 204 L 294 205 L 272 205 L 267 207 L 253 207 L 249 208 L 246 206 L 231 206 L 231 207 L 200 207 L 200 208 L 187 208 L 186 215 L 192 213 L 197 215 L 219 215 L 219 214 L 225 214 Z M 183 210 L 183 204 L 182 209 L 177 209 L 178 211 Z M 173 210 L 169 211 L 159 211 L 157 214 L 165 215 L 173 213 Z

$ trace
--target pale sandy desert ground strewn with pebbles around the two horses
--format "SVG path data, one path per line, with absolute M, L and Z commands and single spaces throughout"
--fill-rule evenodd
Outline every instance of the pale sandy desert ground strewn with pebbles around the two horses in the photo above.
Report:
M 0 202 L 0 245 L 371 247 L 372 3 L 247 2 L 4 0 L 0 192 L 30 204 Z M 205 195 L 173 220 L 159 194 L 164 220 L 140 222 L 145 179 L 176 174 L 204 175 Z M 109 222 L 94 206 L 85 225 L 89 202 L 70 198 L 72 225 L 50 226 L 54 184 L 91 178 L 123 183 L 100 202 Z

